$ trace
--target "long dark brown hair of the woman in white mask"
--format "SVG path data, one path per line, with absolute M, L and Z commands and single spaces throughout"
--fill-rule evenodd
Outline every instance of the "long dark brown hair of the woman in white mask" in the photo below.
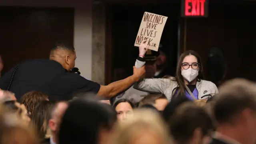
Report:
M 194 50 L 188 50 L 188 51 L 183 52 L 180 55 L 180 58 L 179 58 L 179 61 L 178 61 L 178 64 L 177 64 L 177 68 L 176 68 L 176 76 L 175 76 L 175 79 L 174 79 L 178 83 L 178 86 L 179 86 L 177 96 L 185 94 L 186 88 L 185 88 L 185 84 L 184 84 L 184 78 L 181 75 L 181 65 L 182 65 L 182 62 L 183 62 L 184 58 L 188 55 L 193 55 L 193 56 L 196 57 L 196 59 L 198 61 L 198 64 L 199 64 L 199 70 L 198 70 L 197 78 L 198 78 L 199 81 L 204 79 L 203 78 L 202 61 L 201 61 L 201 58 L 200 58 L 199 54 L 197 52 L 195 52 Z

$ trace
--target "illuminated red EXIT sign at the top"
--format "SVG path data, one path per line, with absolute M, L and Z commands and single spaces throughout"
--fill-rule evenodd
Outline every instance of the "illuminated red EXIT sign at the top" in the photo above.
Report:
M 185 0 L 185 16 L 204 16 L 205 0 Z

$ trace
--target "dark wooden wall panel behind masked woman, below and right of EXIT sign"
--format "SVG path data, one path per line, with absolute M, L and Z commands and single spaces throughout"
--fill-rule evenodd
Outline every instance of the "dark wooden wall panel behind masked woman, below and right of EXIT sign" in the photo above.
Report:
M 208 51 L 213 46 L 223 49 L 227 61 L 226 79 L 242 77 L 256 80 L 255 32 L 253 5 L 211 5 L 208 18 L 182 18 L 186 24 L 186 50 L 196 50 L 204 68 Z M 184 49 L 181 38 L 181 52 Z

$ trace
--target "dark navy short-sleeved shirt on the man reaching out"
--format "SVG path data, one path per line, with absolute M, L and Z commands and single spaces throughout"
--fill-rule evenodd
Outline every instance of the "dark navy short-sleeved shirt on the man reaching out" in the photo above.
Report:
M 15 67 L 0 78 L 1 89 L 8 88 Z M 100 84 L 87 80 L 77 73 L 67 72 L 54 60 L 38 59 L 22 62 L 10 87 L 17 100 L 32 90 L 48 94 L 49 100 L 70 100 L 76 91 L 98 93 Z

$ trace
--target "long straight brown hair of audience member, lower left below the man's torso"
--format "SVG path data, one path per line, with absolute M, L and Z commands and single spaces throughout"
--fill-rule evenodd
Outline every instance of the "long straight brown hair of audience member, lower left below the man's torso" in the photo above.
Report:
M 54 105 L 55 102 L 44 100 L 38 103 L 31 115 L 31 124 L 36 128 L 41 140 L 45 138 L 48 121 L 51 118 L 51 112 Z

